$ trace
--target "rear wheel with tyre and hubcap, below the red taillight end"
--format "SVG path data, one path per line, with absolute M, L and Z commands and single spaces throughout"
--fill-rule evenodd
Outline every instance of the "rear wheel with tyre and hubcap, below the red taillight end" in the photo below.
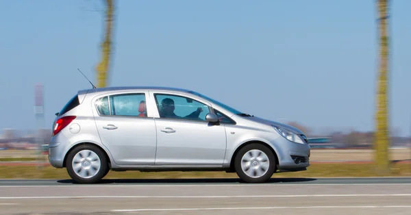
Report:
M 66 169 L 75 183 L 93 184 L 108 173 L 108 162 L 101 149 L 85 144 L 75 147 L 67 155 Z

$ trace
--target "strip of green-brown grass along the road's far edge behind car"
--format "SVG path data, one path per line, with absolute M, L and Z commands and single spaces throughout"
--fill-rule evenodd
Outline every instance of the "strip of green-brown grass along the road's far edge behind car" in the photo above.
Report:
M 392 164 L 390 173 L 379 175 L 373 164 L 312 164 L 308 170 L 296 173 L 278 173 L 273 177 L 377 177 L 411 176 L 411 164 Z M 1 179 L 70 179 L 65 168 L 52 166 L 0 166 Z M 182 179 L 182 178 L 238 178 L 236 173 L 225 172 L 160 172 L 138 171 L 108 173 L 106 179 Z

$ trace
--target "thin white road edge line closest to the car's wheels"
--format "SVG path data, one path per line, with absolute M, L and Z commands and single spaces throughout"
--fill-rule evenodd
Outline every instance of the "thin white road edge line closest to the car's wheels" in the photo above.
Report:
M 106 184 L 106 185 L 11 185 L 11 186 L 0 186 L 0 188 L 61 188 L 61 187 L 67 187 L 67 188 L 73 188 L 73 187 L 95 187 L 95 188 L 101 188 L 101 187 L 207 187 L 207 186 L 212 186 L 212 187 L 230 187 L 230 186 L 410 186 L 411 183 L 407 184 L 289 184 L 292 182 L 279 182 L 275 184 L 119 184 L 119 185 L 114 185 L 114 184 Z

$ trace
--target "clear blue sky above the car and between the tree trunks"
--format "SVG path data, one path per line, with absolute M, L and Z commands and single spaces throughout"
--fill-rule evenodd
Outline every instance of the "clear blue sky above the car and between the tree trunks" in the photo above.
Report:
M 95 82 L 97 0 L 0 1 L 0 128 L 45 126 Z M 410 134 L 411 1 L 390 12 L 390 124 Z M 97 10 L 97 11 L 95 11 Z M 110 86 L 189 88 L 238 110 L 319 131 L 374 128 L 375 1 L 137 1 L 116 9 Z M 156 76 L 160 76 L 157 77 Z

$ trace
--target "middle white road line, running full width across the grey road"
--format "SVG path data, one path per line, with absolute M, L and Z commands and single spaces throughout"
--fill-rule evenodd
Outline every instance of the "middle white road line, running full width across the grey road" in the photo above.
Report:
M 55 196 L 55 197 L 0 197 L 0 199 L 226 199 L 226 198 L 300 198 L 300 197 L 411 197 L 411 193 L 399 194 L 301 194 L 301 195 L 258 195 L 258 196 Z

